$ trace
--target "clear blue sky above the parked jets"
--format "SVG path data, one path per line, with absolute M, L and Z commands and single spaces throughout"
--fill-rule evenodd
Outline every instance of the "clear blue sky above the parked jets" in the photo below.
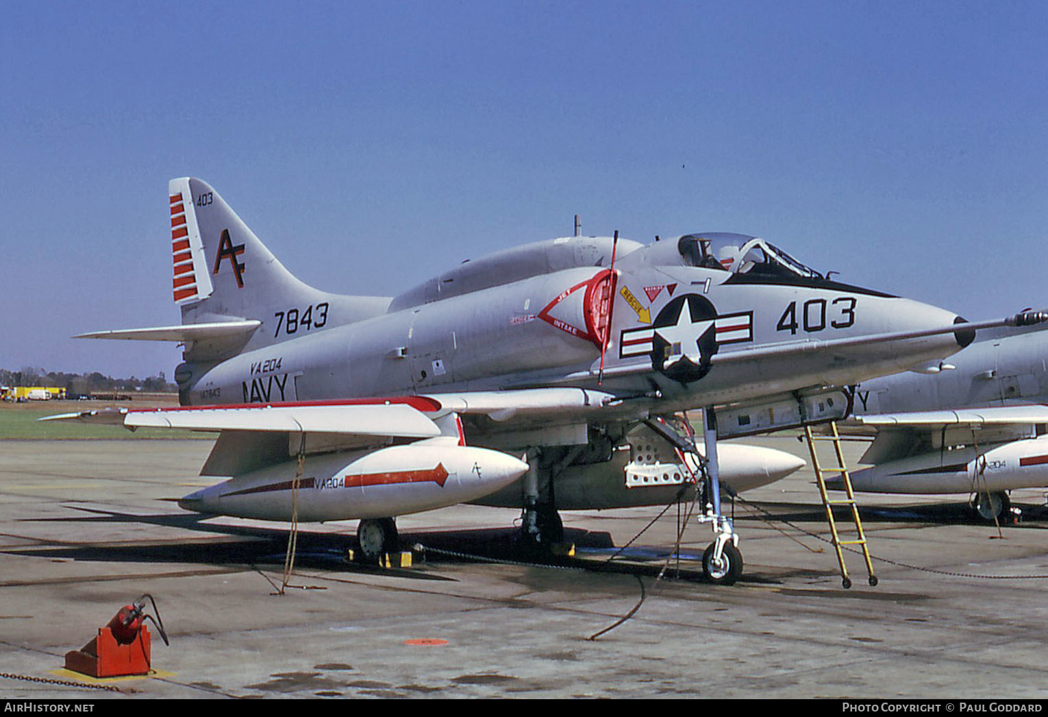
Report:
M 167 182 L 320 288 L 735 231 L 988 319 L 1048 305 L 1048 3 L 6 2 L 0 367 L 145 376 Z

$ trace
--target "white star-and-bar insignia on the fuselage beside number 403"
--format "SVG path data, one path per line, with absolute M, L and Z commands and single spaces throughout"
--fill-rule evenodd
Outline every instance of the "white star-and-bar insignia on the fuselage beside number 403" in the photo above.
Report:
M 707 299 L 684 294 L 658 312 L 651 327 L 619 334 L 619 358 L 648 355 L 652 368 L 680 382 L 698 381 L 721 344 L 754 340 L 754 312 L 717 314 Z

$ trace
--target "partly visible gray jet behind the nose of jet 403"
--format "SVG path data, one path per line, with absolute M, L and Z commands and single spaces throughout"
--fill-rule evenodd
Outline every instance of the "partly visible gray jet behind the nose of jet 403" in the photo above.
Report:
M 855 418 L 877 430 L 856 491 L 968 494 L 986 520 L 1008 491 L 1048 486 L 1048 330 L 996 329 L 923 373 L 864 382 Z

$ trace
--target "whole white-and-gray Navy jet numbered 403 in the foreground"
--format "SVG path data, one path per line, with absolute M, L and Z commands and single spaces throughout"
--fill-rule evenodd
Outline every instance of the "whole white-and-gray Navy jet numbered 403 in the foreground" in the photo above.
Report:
M 558 508 L 698 491 L 715 536 L 705 571 L 734 582 L 721 482 L 744 490 L 803 463 L 718 451 L 718 436 L 840 418 L 844 387 L 1042 318 L 964 323 L 739 234 L 552 239 L 393 299 L 342 296 L 292 277 L 203 181 L 174 179 L 169 195 L 181 325 L 84 335 L 183 342 L 182 407 L 109 419 L 220 432 L 201 474 L 227 480 L 183 508 L 361 519 L 368 556 L 391 549 L 395 516 L 463 501 L 522 506 L 524 535 L 546 543 Z M 701 440 L 680 418 L 697 409 Z

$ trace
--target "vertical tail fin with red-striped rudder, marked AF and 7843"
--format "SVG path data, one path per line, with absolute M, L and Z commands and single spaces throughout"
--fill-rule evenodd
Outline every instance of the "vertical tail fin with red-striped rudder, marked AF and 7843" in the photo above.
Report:
M 329 294 L 296 279 L 206 182 L 182 177 L 168 189 L 182 324 L 258 319 L 250 350 L 386 311 L 389 299 Z

